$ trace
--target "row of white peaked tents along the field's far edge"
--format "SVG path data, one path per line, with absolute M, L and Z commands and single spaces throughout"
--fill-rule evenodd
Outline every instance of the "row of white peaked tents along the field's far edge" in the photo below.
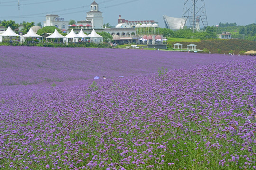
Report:
M 41 38 L 42 36 L 36 34 L 32 28 L 30 28 L 30 30 L 27 32 L 27 34 L 25 35 L 18 35 L 16 34 L 14 31 L 12 31 L 12 29 L 10 27 L 7 28 L 7 30 L 0 34 L 0 42 L 2 42 L 2 37 L 20 37 L 20 41 L 24 42 L 26 38 Z M 66 36 L 61 35 L 57 29 L 55 29 L 54 33 L 51 34 L 50 36 L 46 37 L 46 41 L 47 39 L 55 39 L 55 38 L 62 38 L 63 42 L 68 43 L 68 39 L 72 39 L 72 42 L 78 42 L 78 38 L 90 38 L 90 42 L 93 43 L 102 43 L 103 42 L 103 37 L 99 34 L 96 33 L 96 31 L 93 29 L 91 34 L 86 35 L 84 34 L 84 32 L 82 31 L 82 29 L 80 30 L 80 32 L 78 34 L 75 34 L 75 32 L 73 31 L 73 29 L 70 31 L 69 34 L 67 34 Z

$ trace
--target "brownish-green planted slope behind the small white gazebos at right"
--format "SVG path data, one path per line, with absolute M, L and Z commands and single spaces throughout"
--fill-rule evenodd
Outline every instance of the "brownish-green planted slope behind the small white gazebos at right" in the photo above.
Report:
M 169 43 L 172 45 L 177 42 Z M 187 45 L 193 43 L 197 45 L 197 49 L 204 49 L 207 48 L 211 53 L 218 53 L 218 49 L 221 49 L 221 53 L 229 53 L 230 50 L 235 50 L 234 54 L 238 54 L 240 51 L 249 51 L 249 50 L 256 50 L 256 42 L 255 41 L 248 41 L 248 40 L 223 40 L 223 39 L 210 39 L 210 40 L 201 40 L 199 42 L 178 42 L 183 44 L 183 48 L 186 48 Z

